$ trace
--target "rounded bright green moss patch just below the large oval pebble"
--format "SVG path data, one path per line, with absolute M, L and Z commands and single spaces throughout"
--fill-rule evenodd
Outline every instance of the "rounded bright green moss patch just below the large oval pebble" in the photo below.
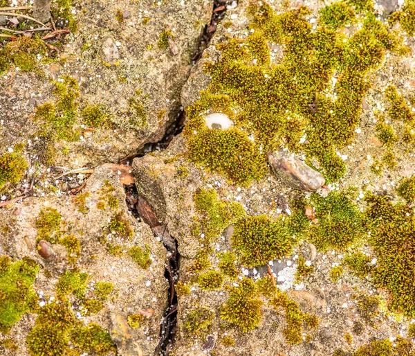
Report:
M 313 194 L 318 224 L 309 229 L 309 240 L 318 249 L 347 249 L 365 233 L 364 216 L 345 193 L 331 191 L 326 198 Z

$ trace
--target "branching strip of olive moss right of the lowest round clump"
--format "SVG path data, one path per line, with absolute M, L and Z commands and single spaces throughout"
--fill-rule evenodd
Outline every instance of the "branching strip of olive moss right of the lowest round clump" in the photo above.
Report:
M 278 312 L 279 307 L 284 308 L 287 326 L 284 328 L 283 335 L 289 344 L 299 344 L 302 342 L 302 330 L 304 323 L 309 328 L 317 328 L 318 319 L 315 315 L 302 312 L 295 301 L 290 299 L 286 293 L 277 290 L 277 296 L 270 301 Z

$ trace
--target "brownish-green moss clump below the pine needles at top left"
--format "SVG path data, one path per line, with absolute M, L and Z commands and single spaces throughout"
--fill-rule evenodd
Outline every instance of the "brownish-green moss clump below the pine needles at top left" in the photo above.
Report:
M 37 55 L 45 56 L 47 53 L 48 48 L 42 39 L 19 36 L 0 48 L 0 74 L 8 71 L 10 64 L 24 72 L 35 71 L 39 63 Z

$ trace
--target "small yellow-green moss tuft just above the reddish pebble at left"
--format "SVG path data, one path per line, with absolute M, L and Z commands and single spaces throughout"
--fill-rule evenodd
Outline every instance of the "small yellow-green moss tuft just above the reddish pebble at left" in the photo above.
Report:
M 42 208 L 35 223 L 38 239 L 56 243 L 62 235 L 59 231 L 61 222 L 62 215 L 55 208 Z

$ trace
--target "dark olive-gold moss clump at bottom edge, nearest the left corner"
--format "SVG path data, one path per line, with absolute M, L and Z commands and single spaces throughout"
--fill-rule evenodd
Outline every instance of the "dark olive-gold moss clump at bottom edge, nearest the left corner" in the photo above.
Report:
M 46 304 L 39 310 L 35 327 L 26 338 L 30 355 L 61 356 L 68 348 L 68 332 L 75 317 L 65 303 Z

